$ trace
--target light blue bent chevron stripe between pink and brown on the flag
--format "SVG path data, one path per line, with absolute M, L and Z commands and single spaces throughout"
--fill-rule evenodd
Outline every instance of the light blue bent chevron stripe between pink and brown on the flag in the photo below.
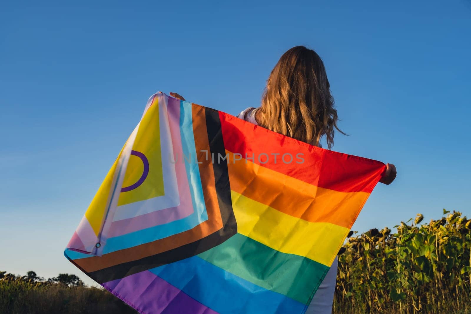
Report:
M 195 137 L 193 135 L 192 105 L 188 102 L 180 102 L 180 137 L 182 139 L 183 153 L 188 157 L 192 156 L 190 163 L 185 162 L 189 187 L 191 191 L 193 208 L 195 211 L 188 217 L 169 222 L 163 225 L 156 225 L 150 228 L 138 230 L 132 233 L 107 239 L 102 254 L 111 253 L 117 250 L 128 249 L 143 243 L 160 240 L 171 235 L 187 231 L 208 220 L 206 204 L 203 197 L 203 186 L 199 166 L 195 161 Z

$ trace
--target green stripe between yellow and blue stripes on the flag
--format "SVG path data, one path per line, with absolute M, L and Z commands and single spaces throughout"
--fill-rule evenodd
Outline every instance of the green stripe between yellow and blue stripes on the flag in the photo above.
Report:
M 268 290 L 308 304 L 328 266 L 269 248 L 240 233 L 198 254 L 207 262 Z

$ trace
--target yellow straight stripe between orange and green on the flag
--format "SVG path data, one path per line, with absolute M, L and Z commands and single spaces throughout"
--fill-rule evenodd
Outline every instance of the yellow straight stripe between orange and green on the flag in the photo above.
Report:
M 283 253 L 331 266 L 349 232 L 339 225 L 292 217 L 234 191 L 231 196 L 237 232 Z

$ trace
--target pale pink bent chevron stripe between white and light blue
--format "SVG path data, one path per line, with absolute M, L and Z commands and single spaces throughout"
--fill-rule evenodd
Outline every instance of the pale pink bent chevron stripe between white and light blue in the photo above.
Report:
M 183 150 L 181 147 L 180 135 L 180 105 L 171 104 L 170 102 L 178 102 L 169 98 L 167 106 L 167 116 L 170 125 L 171 141 L 173 146 L 173 154 L 175 163 L 175 172 L 177 176 L 177 185 L 180 195 L 180 204 L 176 207 L 166 208 L 153 211 L 148 214 L 114 221 L 108 232 L 108 238 L 116 237 L 122 234 L 131 233 L 145 228 L 154 227 L 156 225 L 164 225 L 169 222 L 179 220 L 191 215 L 194 211 L 191 201 L 190 188 L 185 166 L 181 162 L 183 158 Z M 163 126 L 161 126 L 163 127 Z

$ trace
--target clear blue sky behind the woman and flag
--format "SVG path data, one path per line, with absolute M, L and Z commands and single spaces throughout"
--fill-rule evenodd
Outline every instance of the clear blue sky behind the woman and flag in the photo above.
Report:
M 239 113 L 296 45 L 324 59 L 333 149 L 398 169 L 353 230 L 471 216 L 470 1 L 254 2 L 2 2 L 0 270 L 86 278 L 63 250 L 147 98 Z

